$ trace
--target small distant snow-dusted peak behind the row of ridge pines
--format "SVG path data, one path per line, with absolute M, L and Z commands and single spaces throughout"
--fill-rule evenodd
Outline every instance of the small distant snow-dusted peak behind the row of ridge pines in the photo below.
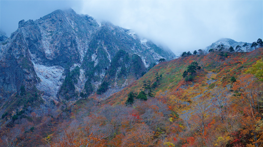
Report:
M 245 47 L 242 47 L 245 43 L 247 42 L 236 42 L 233 39 L 229 39 L 229 38 L 221 38 L 218 41 L 212 43 L 210 46 L 203 48 L 203 50 L 205 50 L 206 52 L 208 52 L 209 49 L 217 49 L 218 45 L 223 44 L 225 49 L 228 51 L 228 49 L 230 48 L 230 46 L 232 46 L 234 49 L 237 45 L 241 46 L 241 49 L 246 51 L 246 52 L 250 52 L 252 50 L 254 50 L 254 48 L 251 48 L 252 43 L 247 43 L 247 45 L 249 46 L 248 49 L 246 49 Z

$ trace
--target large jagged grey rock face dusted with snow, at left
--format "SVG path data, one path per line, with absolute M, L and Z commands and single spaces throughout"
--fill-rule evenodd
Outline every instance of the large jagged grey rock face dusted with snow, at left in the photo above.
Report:
M 81 92 L 90 95 L 103 81 L 108 82 L 106 91 L 121 89 L 160 58 L 176 57 L 131 30 L 72 9 L 56 10 L 35 21 L 21 20 L 18 26 L 0 44 L 3 97 L 19 93 L 22 85 L 27 90 L 36 86 L 44 100 L 78 97 Z

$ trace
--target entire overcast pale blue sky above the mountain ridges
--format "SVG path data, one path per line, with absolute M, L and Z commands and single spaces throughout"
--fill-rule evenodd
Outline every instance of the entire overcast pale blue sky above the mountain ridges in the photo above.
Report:
M 263 38 L 263 1 L 0 1 L 0 29 L 56 9 L 74 9 L 133 29 L 174 52 L 193 51 L 220 38 L 252 43 Z

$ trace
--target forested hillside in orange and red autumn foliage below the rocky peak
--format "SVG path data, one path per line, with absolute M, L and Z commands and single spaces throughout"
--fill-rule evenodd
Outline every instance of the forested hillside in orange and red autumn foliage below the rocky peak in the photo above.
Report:
M 262 57 L 258 48 L 160 60 L 106 100 L 2 115 L 11 121 L 1 146 L 263 146 Z

